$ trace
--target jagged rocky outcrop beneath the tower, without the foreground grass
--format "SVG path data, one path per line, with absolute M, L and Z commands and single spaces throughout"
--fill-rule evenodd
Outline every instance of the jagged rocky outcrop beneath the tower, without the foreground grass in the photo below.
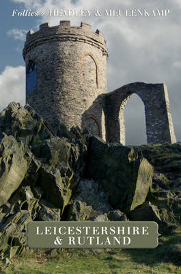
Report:
M 77 127 L 52 131 L 18 103 L 1 112 L 0 130 L 1 258 L 27 248 L 29 221 L 180 225 L 180 143 L 125 147 Z

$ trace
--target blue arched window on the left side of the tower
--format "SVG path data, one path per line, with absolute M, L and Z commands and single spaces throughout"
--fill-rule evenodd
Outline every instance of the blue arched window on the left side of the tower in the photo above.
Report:
M 27 95 L 36 90 L 37 87 L 37 68 L 36 63 L 29 61 L 27 67 Z

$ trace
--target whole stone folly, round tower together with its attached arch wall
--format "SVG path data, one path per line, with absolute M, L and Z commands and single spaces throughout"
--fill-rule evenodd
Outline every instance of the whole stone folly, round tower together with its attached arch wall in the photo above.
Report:
M 176 142 L 165 84 L 137 82 L 107 93 L 106 42 L 102 33 L 92 32 L 87 23 L 72 27 L 70 21 L 60 21 L 55 27 L 44 23 L 38 32 L 31 29 L 23 57 L 26 102 L 50 127 L 55 121 L 68 129 L 78 125 L 104 140 L 124 145 L 124 108 L 136 93 L 145 106 L 148 143 Z M 36 70 L 34 76 L 31 66 Z

